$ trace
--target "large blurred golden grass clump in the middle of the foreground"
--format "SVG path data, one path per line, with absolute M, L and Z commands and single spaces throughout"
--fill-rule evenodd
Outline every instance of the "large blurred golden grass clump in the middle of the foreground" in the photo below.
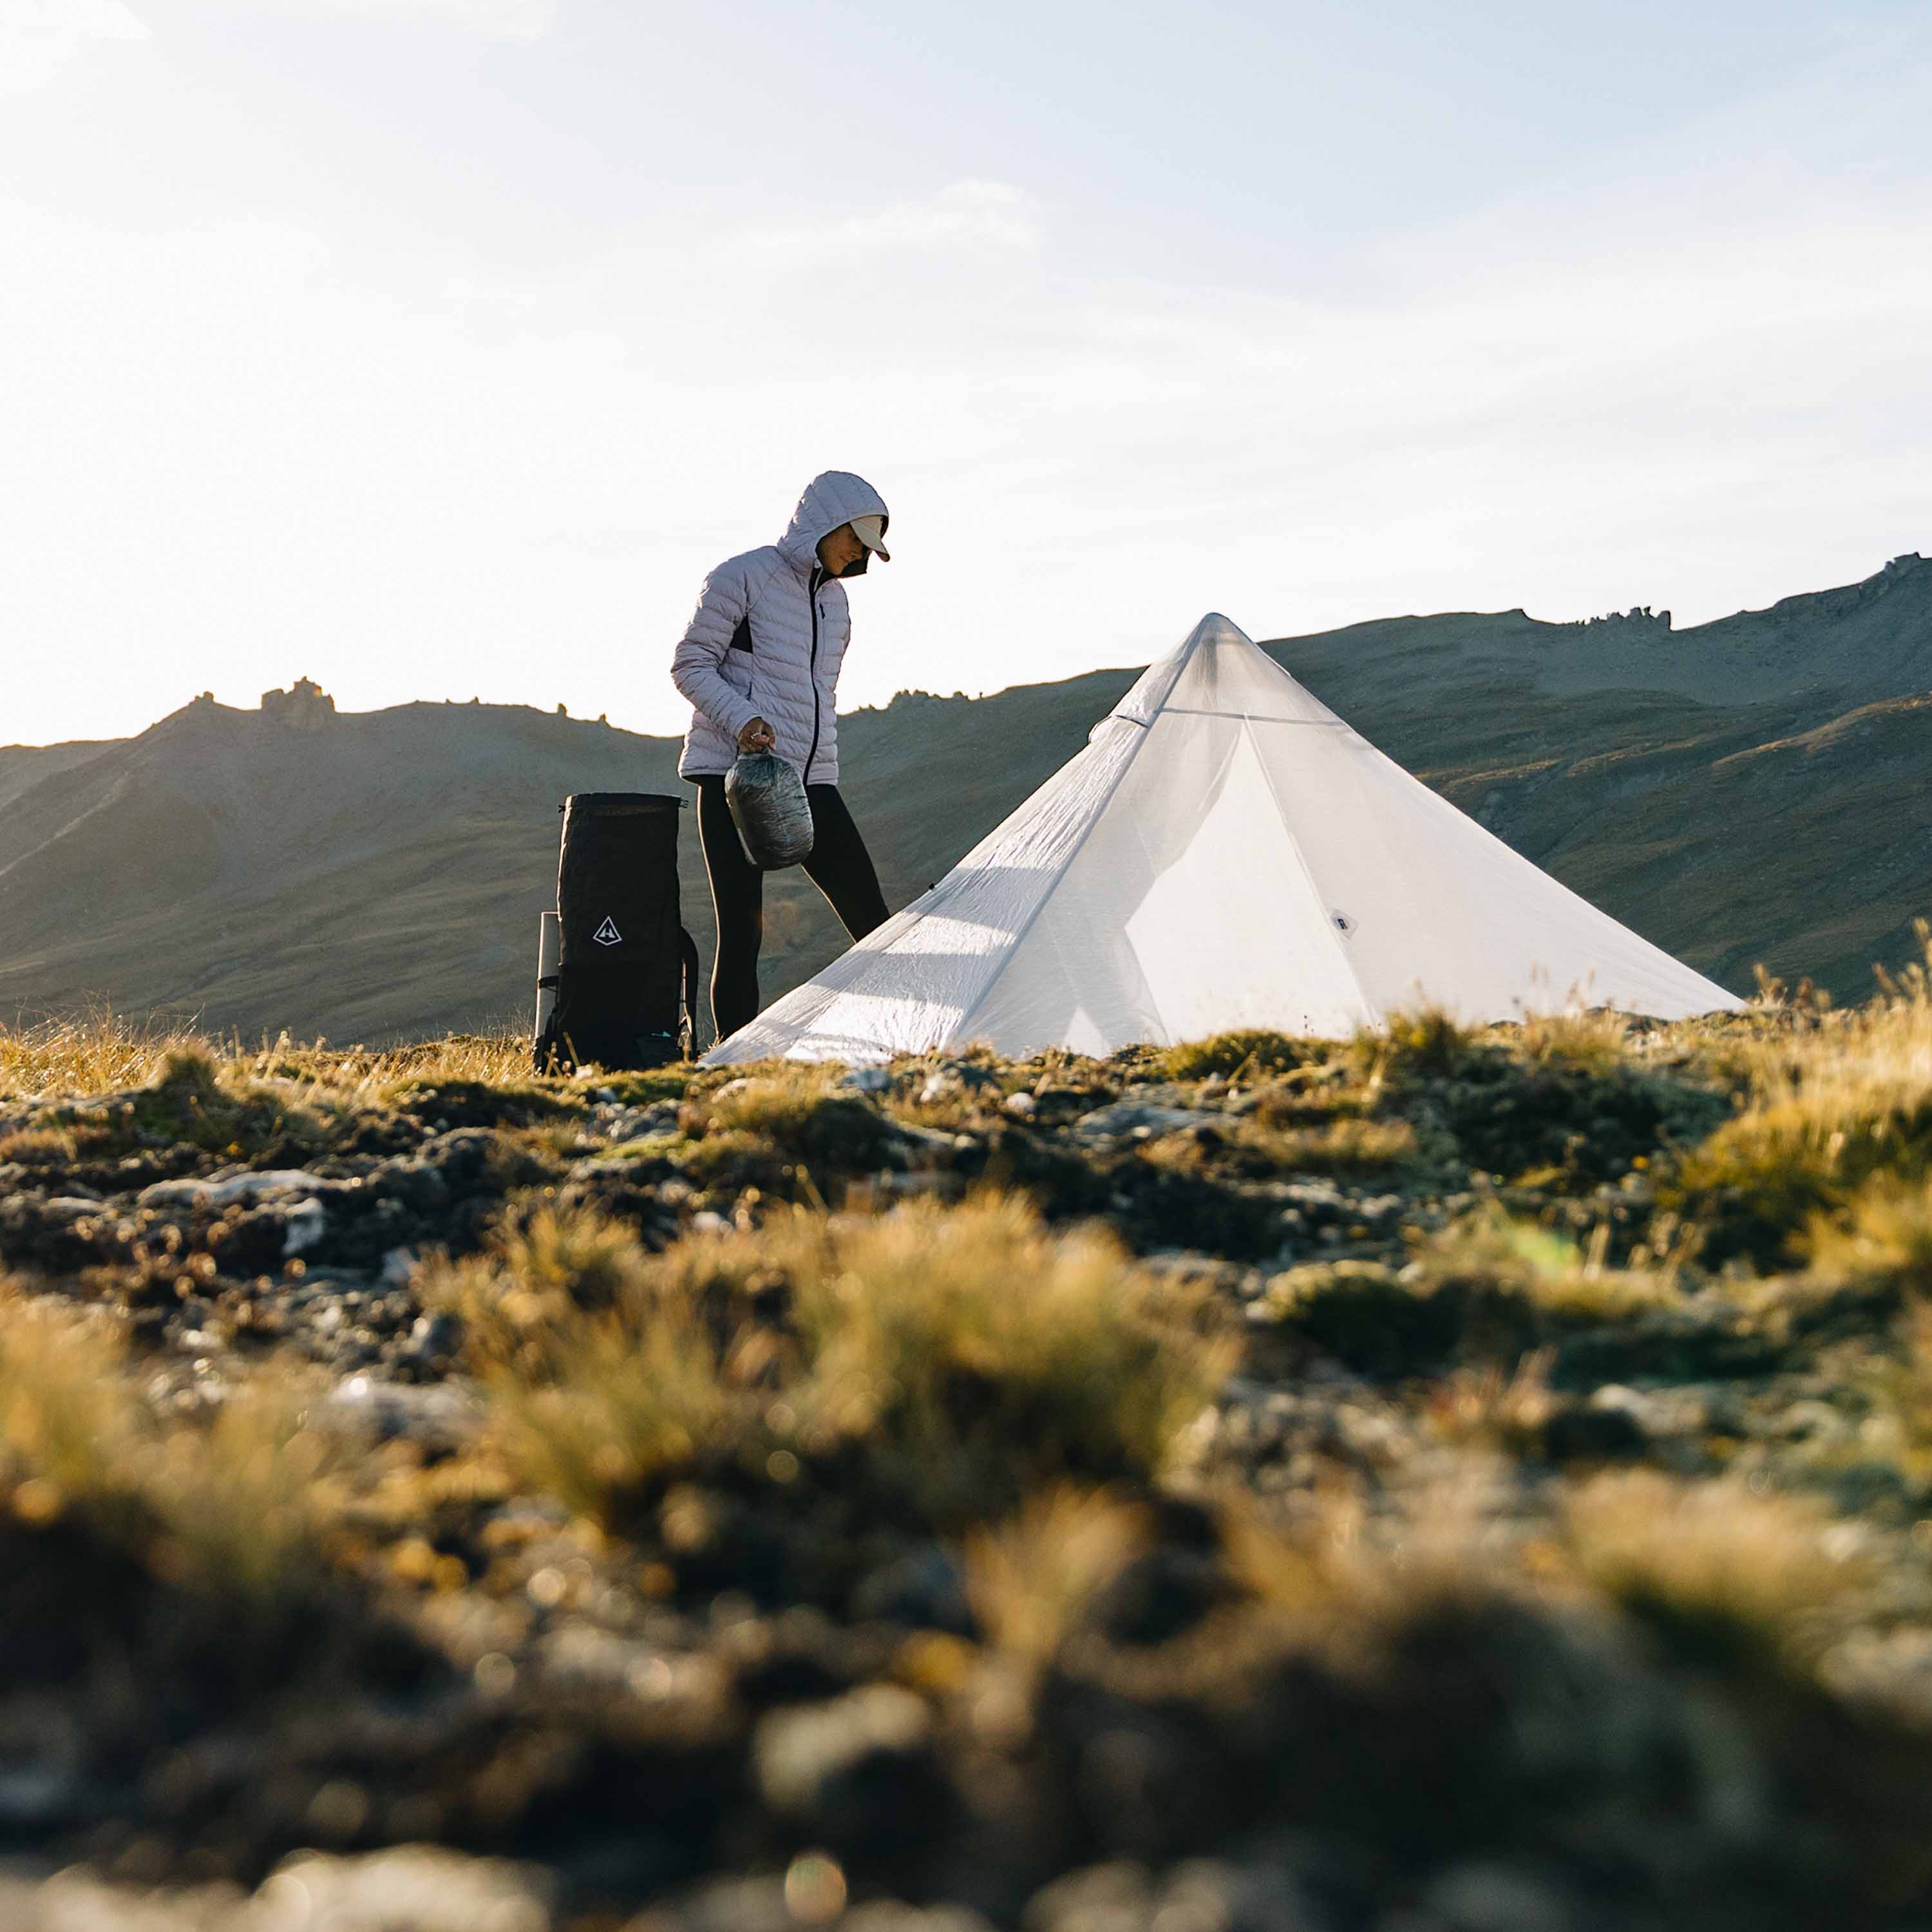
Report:
M 782 1484 L 856 1453 L 933 1522 L 1059 1476 L 1146 1480 L 1235 1356 L 1198 1291 L 1012 1196 L 786 1211 L 661 1256 L 539 1213 L 421 1289 L 471 1323 L 514 1464 L 607 1519 L 701 1463 Z

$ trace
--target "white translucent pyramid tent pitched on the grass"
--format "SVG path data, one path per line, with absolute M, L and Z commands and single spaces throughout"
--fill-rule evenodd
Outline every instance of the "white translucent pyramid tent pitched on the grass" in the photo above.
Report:
M 707 1055 L 877 1061 L 1339 1036 L 1435 1005 L 1741 1005 L 1598 912 L 1206 616 L 929 893 Z

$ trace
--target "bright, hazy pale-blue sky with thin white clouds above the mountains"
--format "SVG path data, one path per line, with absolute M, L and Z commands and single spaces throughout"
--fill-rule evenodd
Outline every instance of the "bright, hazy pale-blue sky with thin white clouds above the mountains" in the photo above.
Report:
M 0 0 L 0 744 L 298 674 L 682 728 L 1932 551 L 1924 0 Z

